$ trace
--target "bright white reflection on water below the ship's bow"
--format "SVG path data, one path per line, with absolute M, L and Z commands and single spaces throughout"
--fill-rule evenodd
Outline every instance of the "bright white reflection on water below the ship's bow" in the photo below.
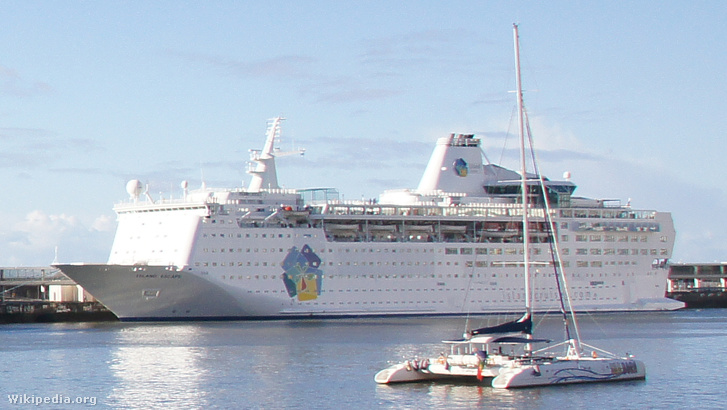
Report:
M 195 325 L 141 325 L 120 331 L 109 363 L 116 383 L 107 403 L 123 409 L 206 407 L 206 392 L 200 389 L 207 372 L 200 331 Z

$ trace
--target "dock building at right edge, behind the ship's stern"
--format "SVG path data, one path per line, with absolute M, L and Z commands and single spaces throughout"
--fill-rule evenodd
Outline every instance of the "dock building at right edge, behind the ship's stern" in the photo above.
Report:
M 727 307 L 727 262 L 670 264 L 666 296 L 688 308 Z

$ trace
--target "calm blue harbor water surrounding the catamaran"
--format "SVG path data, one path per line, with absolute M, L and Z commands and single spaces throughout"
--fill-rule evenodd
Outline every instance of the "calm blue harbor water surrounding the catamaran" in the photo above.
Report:
M 727 310 L 580 322 L 587 343 L 645 361 L 647 380 L 513 391 L 374 383 L 388 361 L 441 351 L 464 318 L 21 324 L 0 327 L 0 408 L 725 407 Z M 546 317 L 538 336 L 559 339 L 558 323 Z

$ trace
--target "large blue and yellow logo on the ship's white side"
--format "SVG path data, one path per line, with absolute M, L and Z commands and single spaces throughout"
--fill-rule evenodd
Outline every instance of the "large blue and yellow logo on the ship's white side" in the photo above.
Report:
M 317 299 L 321 294 L 323 271 L 321 258 L 313 252 L 308 245 L 298 250 L 295 246 L 290 249 L 283 259 L 281 275 L 288 296 L 297 297 L 299 301 Z

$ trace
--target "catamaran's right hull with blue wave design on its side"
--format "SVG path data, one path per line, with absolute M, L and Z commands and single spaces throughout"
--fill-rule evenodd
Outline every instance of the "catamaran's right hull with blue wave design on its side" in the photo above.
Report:
M 643 380 L 646 366 L 633 359 L 573 359 L 503 368 L 492 387 L 511 389 L 573 383 Z

